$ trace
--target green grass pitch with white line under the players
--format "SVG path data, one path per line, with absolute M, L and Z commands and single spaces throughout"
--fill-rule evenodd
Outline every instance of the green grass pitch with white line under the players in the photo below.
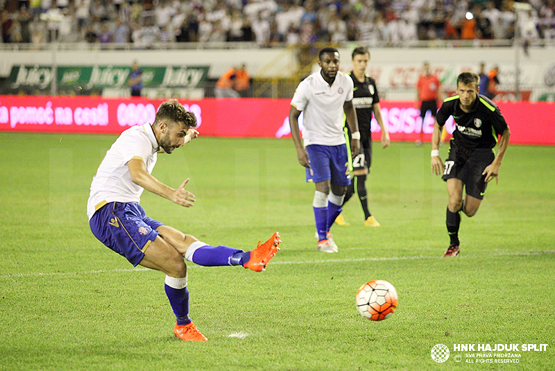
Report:
M 145 192 L 149 216 L 211 244 L 250 250 L 276 230 L 283 240 L 263 273 L 188 264 L 191 317 L 209 341 L 185 343 L 164 275 L 133 268 L 89 230 L 89 185 L 115 138 L 0 133 L 0 370 L 553 370 L 554 147 L 509 146 L 499 184 L 462 217 L 452 259 L 429 146 L 375 146 L 367 186 L 382 227 L 364 227 L 355 197 L 351 225 L 332 229 L 337 254 L 316 252 L 314 185 L 292 141 L 199 137 L 160 155 L 153 175 L 173 187 L 191 178 L 197 201 Z M 399 293 L 382 322 L 355 307 L 370 279 Z M 513 352 L 518 363 L 453 352 L 497 343 L 548 346 Z M 436 344 L 451 350 L 445 363 L 430 356 Z

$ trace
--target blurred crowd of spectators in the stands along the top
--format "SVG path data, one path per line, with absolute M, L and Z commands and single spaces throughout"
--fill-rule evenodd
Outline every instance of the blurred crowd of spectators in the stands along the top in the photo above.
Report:
M 555 0 L 0 0 L 3 43 L 40 45 L 555 39 Z M 518 24 L 516 22 L 518 21 Z M 112 45 L 113 46 L 113 45 Z

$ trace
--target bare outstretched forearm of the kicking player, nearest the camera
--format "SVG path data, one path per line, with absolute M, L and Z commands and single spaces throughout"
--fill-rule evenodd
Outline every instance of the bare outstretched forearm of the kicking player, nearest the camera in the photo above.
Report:
M 195 196 L 193 193 L 185 190 L 185 186 L 189 179 L 182 182 L 178 189 L 173 189 L 166 184 L 160 182 L 154 178 L 151 174 L 146 171 L 146 165 L 142 159 L 131 159 L 127 166 L 131 175 L 131 180 L 152 193 L 157 194 L 175 202 L 178 205 L 184 207 L 191 207 L 195 202 Z

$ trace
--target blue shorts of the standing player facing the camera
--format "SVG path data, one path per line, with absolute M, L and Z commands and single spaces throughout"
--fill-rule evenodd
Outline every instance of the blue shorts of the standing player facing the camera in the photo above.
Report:
M 340 186 L 351 184 L 346 144 L 339 146 L 310 144 L 306 149 L 310 159 L 307 182 L 318 183 L 331 180 L 332 184 Z

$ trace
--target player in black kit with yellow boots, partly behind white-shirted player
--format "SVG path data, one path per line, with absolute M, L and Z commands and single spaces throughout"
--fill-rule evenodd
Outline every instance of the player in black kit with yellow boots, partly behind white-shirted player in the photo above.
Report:
M 355 84 L 352 104 L 355 105 L 357 111 L 357 120 L 359 121 L 360 131 L 360 152 L 359 155 L 352 159 L 352 182 L 347 188 L 345 194 L 345 202 L 351 198 L 356 192 L 359 196 L 360 204 L 364 212 L 364 225 L 367 227 L 379 227 L 379 223 L 368 209 L 368 191 L 366 191 L 366 175 L 369 173 L 370 165 L 372 164 L 372 138 L 370 136 L 370 121 L 372 120 L 372 113 L 376 118 L 380 128 L 382 128 L 382 148 L 389 146 L 389 133 L 384 126 L 382 120 L 382 112 L 379 107 L 379 96 L 377 94 L 376 82 L 373 78 L 366 75 L 366 67 L 370 60 L 370 52 L 364 46 L 360 46 L 352 51 L 352 66 L 353 70 L 349 74 L 352 82 Z M 345 125 L 345 130 L 348 131 L 350 139 L 350 130 L 348 125 Z M 350 143 L 350 140 L 347 141 Z M 335 221 L 339 225 L 348 225 L 341 214 Z

